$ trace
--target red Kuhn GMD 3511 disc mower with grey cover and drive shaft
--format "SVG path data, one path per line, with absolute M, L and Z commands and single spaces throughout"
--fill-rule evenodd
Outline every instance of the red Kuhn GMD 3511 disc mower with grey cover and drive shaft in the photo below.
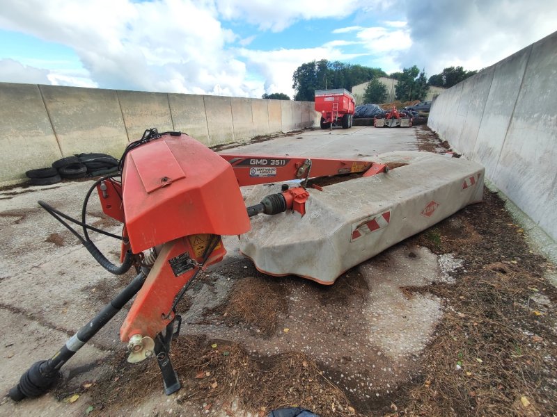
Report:
M 391 162 L 402 166 L 389 171 Z M 262 272 L 334 284 L 361 261 L 479 202 L 484 177 L 477 163 L 427 152 L 391 152 L 375 162 L 219 155 L 183 133 L 156 129 L 127 146 L 120 172 L 93 183 L 81 220 L 39 202 L 103 268 L 122 275 L 134 267 L 137 276 L 50 359 L 33 364 L 10 390 L 13 400 L 51 388 L 61 366 L 134 296 L 120 328 L 128 361 L 156 359 L 166 394 L 178 391 L 169 355 L 180 332 L 176 306 L 198 273 L 223 259 L 221 235 L 239 235 L 241 252 Z M 308 186 L 310 178 L 343 174 L 356 178 Z M 246 206 L 240 187 L 248 185 L 256 186 Z M 86 223 L 95 190 L 104 213 L 123 223 L 121 235 Z M 121 241 L 120 265 L 89 231 Z

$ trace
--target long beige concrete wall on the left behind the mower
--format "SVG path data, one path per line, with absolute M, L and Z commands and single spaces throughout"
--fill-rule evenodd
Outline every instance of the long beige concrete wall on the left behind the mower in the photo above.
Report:
M 63 156 L 119 158 L 151 127 L 212 146 L 315 124 L 313 103 L 301 101 L 0 83 L 0 186 Z

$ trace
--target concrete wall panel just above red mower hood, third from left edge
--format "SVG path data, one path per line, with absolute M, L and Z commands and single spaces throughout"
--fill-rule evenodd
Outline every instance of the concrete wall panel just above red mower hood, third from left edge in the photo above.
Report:
M 174 130 L 166 92 L 118 90 L 118 99 L 130 141 L 141 139 L 152 127 L 159 132 Z

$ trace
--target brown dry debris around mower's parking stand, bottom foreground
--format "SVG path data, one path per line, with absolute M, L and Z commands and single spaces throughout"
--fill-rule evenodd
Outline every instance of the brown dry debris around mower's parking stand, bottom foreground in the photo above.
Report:
M 180 415 L 184 402 L 194 402 L 210 414 L 212 410 L 230 410 L 235 401 L 260 416 L 294 402 L 322 417 L 354 415 L 343 392 L 304 354 L 290 352 L 259 359 L 237 343 L 201 337 L 179 338 L 173 343 L 173 352 L 173 365 L 182 383 L 178 404 L 173 406 L 175 415 Z M 139 405 L 146 393 L 162 389 L 155 361 L 131 365 L 125 356 L 114 354 L 108 361 L 111 373 L 90 388 L 98 412 L 117 412 L 119 404 Z M 72 388 L 66 383 L 56 396 L 65 398 L 80 391 L 83 387 Z M 229 411 L 229 415 L 235 414 Z

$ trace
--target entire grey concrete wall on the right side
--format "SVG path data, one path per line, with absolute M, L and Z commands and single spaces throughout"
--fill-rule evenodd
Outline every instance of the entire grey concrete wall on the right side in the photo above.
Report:
M 439 95 L 428 125 L 557 240 L 557 32 Z

